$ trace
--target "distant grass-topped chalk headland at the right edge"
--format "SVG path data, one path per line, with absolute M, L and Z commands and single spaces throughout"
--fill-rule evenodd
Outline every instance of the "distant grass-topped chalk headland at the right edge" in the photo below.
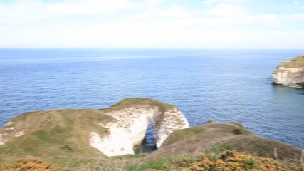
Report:
M 298 56 L 290 61 L 279 63 L 278 68 L 272 74 L 273 83 L 291 86 L 304 87 L 304 56 Z

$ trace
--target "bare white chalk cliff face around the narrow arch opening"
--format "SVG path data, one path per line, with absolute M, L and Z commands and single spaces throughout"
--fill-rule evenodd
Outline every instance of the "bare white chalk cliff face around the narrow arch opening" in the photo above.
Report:
M 134 154 L 133 148 L 142 143 L 148 125 L 154 127 L 157 147 L 174 130 L 189 127 L 187 119 L 176 107 L 163 110 L 157 105 L 143 104 L 106 114 L 117 121 L 101 125 L 108 128 L 108 135 L 100 136 L 94 131 L 90 132 L 90 145 L 107 156 Z

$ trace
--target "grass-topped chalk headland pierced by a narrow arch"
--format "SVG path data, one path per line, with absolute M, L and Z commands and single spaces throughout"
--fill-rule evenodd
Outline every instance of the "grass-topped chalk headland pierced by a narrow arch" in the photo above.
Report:
M 148 125 L 154 128 L 157 147 L 174 130 L 189 127 L 174 105 L 150 98 L 125 98 L 101 110 L 49 110 L 12 118 L 0 130 L 0 152 L 19 144 L 41 155 L 67 155 L 66 150 L 89 155 L 96 151 L 107 156 L 134 154 L 133 148 L 142 143 Z

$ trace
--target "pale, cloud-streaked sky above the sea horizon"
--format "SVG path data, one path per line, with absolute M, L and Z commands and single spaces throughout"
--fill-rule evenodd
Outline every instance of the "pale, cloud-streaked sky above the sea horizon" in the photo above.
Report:
M 304 49 L 304 0 L 0 0 L 0 48 Z

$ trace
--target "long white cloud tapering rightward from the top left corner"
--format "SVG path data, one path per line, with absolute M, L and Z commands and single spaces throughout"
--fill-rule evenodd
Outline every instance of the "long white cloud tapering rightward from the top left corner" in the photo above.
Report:
M 127 7 L 130 7 L 127 0 L 65 0 L 54 4 L 44 4 L 39 0 L 23 0 L 12 4 L 0 4 L 0 22 L 34 21 L 77 14 L 103 14 Z

